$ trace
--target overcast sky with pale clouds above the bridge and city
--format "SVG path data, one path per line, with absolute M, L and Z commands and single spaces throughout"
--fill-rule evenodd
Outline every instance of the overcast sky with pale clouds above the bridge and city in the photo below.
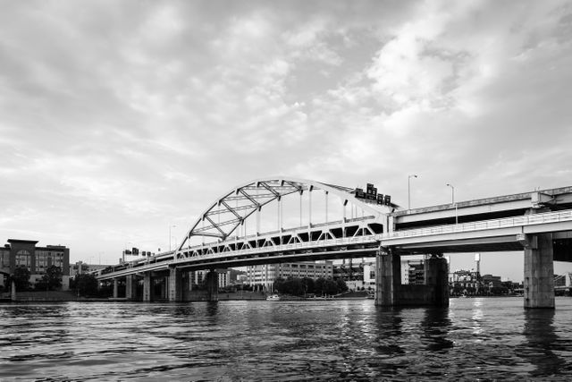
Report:
M 417 174 L 412 207 L 449 202 L 447 183 L 457 200 L 572 185 L 570 1 L 0 6 L 0 240 L 114 263 L 276 175 L 407 206 Z M 521 280 L 521 259 L 482 272 Z

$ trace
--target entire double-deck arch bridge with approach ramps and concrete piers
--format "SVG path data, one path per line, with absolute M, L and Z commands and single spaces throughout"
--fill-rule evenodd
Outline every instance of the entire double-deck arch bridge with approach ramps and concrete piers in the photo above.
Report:
M 223 193 L 189 227 L 176 250 L 118 265 L 99 280 L 127 280 L 133 298 L 143 279 L 165 277 L 172 301 L 192 284 L 191 271 L 320 259 L 375 257 L 380 305 L 447 304 L 443 253 L 524 250 L 525 306 L 553 308 L 553 260 L 572 260 L 572 187 L 404 209 L 368 185 L 265 178 Z M 430 255 L 426 285 L 400 285 L 400 257 Z M 210 278 L 209 278 L 210 277 Z M 130 286 L 131 285 L 131 286 Z M 187 286 L 183 286 L 187 285 Z

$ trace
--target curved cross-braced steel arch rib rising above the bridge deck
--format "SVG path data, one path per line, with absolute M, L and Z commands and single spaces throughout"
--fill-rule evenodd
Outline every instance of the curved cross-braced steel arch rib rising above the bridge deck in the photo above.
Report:
M 357 199 L 355 188 L 282 176 L 259 178 L 240 184 L 215 199 L 190 226 L 177 250 L 189 247 L 191 238 L 196 236 L 209 236 L 223 242 L 240 225 L 245 224 L 249 216 L 252 216 L 257 211 L 262 211 L 274 200 L 280 202 L 285 196 L 296 193 L 299 193 L 301 198 L 304 192 L 308 192 L 307 195 L 311 195 L 315 190 L 324 191 L 326 200 L 329 194 L 340 198 L 344 206 L 344 219 L 346 205 L 361 208 L 362 211 L 365 211 L 370 216 L 374 216 L 376 221 L 383 222 L 383 225 L 389 213 L 395 209 L 401 209 L 396 204 L 390 204 L 389 206 L 378 205 L 375 201 Z M 308 196 L 308 198 L 310 198 L 311 203 L 311 196 Z M 311 205 L 309 210 L 311 214 Z

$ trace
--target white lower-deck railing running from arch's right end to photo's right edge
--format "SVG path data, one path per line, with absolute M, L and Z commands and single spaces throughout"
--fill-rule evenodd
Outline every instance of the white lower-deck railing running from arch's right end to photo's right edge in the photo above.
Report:
M 542 225 L 546 223 L 558 223 L 572 220 L 572 210 L 547 212 L 543 214 L 504 217 L 501 219 L 482 220 L 458 225 L 437 225 L 434 227 L 417 228 L 410 230 L 383 233 L 382 239 L 395 239 L 413 236 L 427 236 L 441 233 L 462 233 L 469 231 L 482 231 L 489 229 L 508 228 L 523 225 Z

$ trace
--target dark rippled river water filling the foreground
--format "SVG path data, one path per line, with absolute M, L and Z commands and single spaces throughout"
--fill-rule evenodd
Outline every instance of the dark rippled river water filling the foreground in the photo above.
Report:
M 572 299 L 8 303 L 0 380 L 572 378 Z

